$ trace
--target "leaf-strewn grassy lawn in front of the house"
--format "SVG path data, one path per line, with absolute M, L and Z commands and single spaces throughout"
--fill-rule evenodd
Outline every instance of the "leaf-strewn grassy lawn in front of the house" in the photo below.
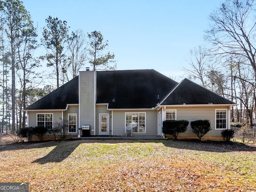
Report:
M 73 140 L 0 146 L 0 182 L 30 192 L 253 192 L 256 146 L 170 140 Z

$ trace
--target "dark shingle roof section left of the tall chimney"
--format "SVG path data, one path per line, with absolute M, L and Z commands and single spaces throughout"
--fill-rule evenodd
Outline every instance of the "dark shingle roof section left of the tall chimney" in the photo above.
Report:
M 64 110 L 67 104 L 78 104 L 78 76 L 24 110 Z

